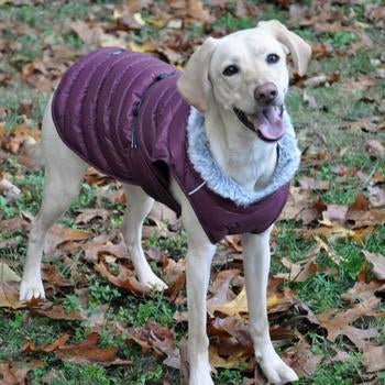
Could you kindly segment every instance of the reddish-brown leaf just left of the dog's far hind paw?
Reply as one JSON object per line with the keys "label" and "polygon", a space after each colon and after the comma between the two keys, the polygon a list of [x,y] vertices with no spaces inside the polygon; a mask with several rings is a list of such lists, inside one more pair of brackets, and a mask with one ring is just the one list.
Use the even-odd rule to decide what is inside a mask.
{"label": "reddish-brown leaf just left of the dog's far hind paw", "polygon": [[94,265],[94,268],[100,273],[103,277],[106,277],[112,285],[116,285],[120,288],[123,288],[132,294],[144,294],[148,295],[151,293],[151,288],[141,284],[136,277],[135,273],[128,267],[119,264],[119,275],[116,276],[111,274],[103,262],[99,262]]}

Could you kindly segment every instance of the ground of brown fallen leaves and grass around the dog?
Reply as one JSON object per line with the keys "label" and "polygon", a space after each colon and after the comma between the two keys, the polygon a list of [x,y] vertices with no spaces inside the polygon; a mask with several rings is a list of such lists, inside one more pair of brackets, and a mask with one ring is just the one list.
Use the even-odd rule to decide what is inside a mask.
{"label": "ground of brown fallen leaves and grass around the dog", "polygon": [[[351,352],[362,354],[362,365],[344,380],[359,384],[361,377],[367,383],[375,382],[377,374],[381,377],[384,340],[381,328],[371,320],[384,317],[385,246],[384,238],[377,235],[385,237],[381,230],[385,222],[385,111],[384,96],[377,91],[384,85],[385,57],[377,50],[384,35],[384,7],[273,3],[86,1],[84,18],[75,7],[62,7],[59,1],[44,10],[37,4],[38,12],[57,13],[55,24],[37,22],[36,11],[29,11],[23,2],[1,6],[8,9],[0,23],[0,86],[6,91],[0,100],[0,183],[8,187],[0,188],[0,307],[10,320],[26,308],[23,311],[35,319],[63,324],[62,334],[50,343],[37,344],[33,336],[25,336],[24,344],[19,345],[24,352],[18,360],[0,363],[3,381],[25,383],[29,372],[44,369],[46,363],[34,359],[37,353],[40,360],[53,360],[50,354],[54,354],[58,366],[61,361],[72,360],[124,367],[132,358],[124,355],[123,345],[116,340],[105,341],[106,330],[123,337],[127,346],[136,344],[153,354],[163,363],[165,378],[172,375],[168,366],[186,373],[186,358],[178,350],[187,328],[180,222],[168,209],[155,206],[144,224],[146,256],[168,285],[160,300],[154,300],[154,294],[138,282],[117,230],[122,206],[130,205],[130,197],[127,202],[121,185],[95,169],[85,178],[95,190],[95,199],[88,199],[90,206],[70,210],[66,224],[55,226],[47,237],[50,260],[43,265],[47,301],[19,301],[20,255],[25,253],[26,230],[36,215],[33,204],[41,199],[31,193],[42,184],[41,178],[37,185],[25,182],[28,175],[35,175],[28,148],[40,139],[36,128],[42,111],[37,102],[47,98],[68,65],[98,46],[131,47],[182,68],[207,35],[219,37],[271,16],[286,20],[310,40],[314,52],[309,74],[302,78],[292,74],[289,110],[304,152],[300,173],[277,224],[279,237],[273,233],[267,298],[271,334],[304,384],[312,383],[323,370],[332,373],[332,365],[346,361]],[[63,16],[64,8],[67,13]],[[28,96],[14,99],[12,95],[20,88]],[[315,127],[308,128],[309,122]],[[352,246],[360,250],[359,263],[346,274],[352,256],[344,249]],[[228,370],[242,373],[246,383],[263,384],[248,333],[241,253],[237,237],[229,237],[218,248],[207,302],[210,360],[218,369],[217,378],[228,378],[222,380],[226,384],[233,383],[226,377],[231,376]],[[317,305],[316,295],[322,294],[311,286],[315,277],[323,285],[343,283],[340,292],[333,293],[339,301],[329,309]],[[152,316],[143,326],[135,326],[136,312],[131,306],[145,306],[148,300],[156,304]],[[164,319],[157,317],[162,304],[169,306],[170,324],[162,324]],[[133,315],[124,312],[124,306]],[[119,321],[118,309],[123,309]],[[75,336],[80,331],[81,337]],[[317,338],[331,355],[317,345]],[[7,339],[0,336],[0,346],[4,343]]]}

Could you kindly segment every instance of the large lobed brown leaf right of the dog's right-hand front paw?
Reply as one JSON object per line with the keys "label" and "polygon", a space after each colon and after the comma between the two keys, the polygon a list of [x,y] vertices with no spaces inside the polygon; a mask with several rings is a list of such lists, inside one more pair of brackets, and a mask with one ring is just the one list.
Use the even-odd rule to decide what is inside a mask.
{"label": "large lobed brown leaf right of the dog's right-hand front paw", "polygon": [[338,336],[346,336],[359,349],[363,349],[366,340],[378,336],[376,329],[359,329],[351,327],[350,323],[363,316],[375,316],[375,307],[380,298],[371,297],[367,300],[358,304],[351,309],[339,311],[330,309],[317,315],[319,324],[327,329],[328,340],[334,342]]}

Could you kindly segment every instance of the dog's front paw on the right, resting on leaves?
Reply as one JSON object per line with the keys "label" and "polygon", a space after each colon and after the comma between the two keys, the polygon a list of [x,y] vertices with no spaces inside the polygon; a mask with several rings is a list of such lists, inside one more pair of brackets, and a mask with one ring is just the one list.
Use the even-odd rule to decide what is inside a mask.
{"label": "dog's front paw on the right, resting on leaves", "polygon": [[268,380],[268,383],[280,385],[298,381],[296,372],[286,365],[273,346],[268,346],[266,350],[255,353],[255,359]]}

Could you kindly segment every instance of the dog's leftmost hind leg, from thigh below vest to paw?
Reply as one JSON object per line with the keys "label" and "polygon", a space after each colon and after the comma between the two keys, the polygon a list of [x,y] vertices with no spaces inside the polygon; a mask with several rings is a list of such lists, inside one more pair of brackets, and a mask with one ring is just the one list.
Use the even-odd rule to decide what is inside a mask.
{"label": "dog's leftmost hind leg, from thigh below vest to paw", "polygon": [[79,191],[87,165],[58,138],[51,117],[51,103],[43,120],[43,154],[45,178],[41,210],[30,232],[20,299],[44,298],[41,261],[47,230],[68,208]]}

